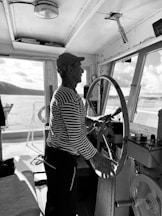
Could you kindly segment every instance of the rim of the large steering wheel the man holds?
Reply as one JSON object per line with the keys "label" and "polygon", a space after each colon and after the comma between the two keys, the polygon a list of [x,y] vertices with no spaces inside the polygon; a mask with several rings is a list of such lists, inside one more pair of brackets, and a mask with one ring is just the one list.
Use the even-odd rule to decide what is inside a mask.
{"label": "rim of the large steering wheel the man holds", "polygon": [[[124,120],[122,148],[121,148],[119,158],[117,160],[115,160],[117,165],[114,166],[114,173],[115,173],[115,175],[117,175],[122,170],[122,167],[124,166],[126,156],[127,156],[127,140],[128,140],[128,137],[129,137],[128,111],[127,111],[127,106],[126,106],[124,95],[123,95],[118,83],[112,77],[109,77],[109,76],[100,76],[100,77],[96,78],[93,81],[93,83],[91,84],[91,86],[90,86],[90,88],[89,88],[89,90],[87,92],[87,96],[86,96],[86,102],[85,102],[86,111],[88,111],[88,106],[91,107],[90,96],[91,96],[91,94],[93,92],[93,89],[94,89],[95,85],[101,80],[106,80],[107,82],[111,83],[115,87],[115,89],[117,91],[117,94],[119,96],[119,99],[120,99],[122,116],[123,116],[123,120]],[[97,114],[97,113],[95,113],[94,110],[93,110],[93,112],[94,112],[95,115]],[[103,138],[105,137],[104,134],[100,134],[100,136],[101,135],[102,135]],[[104,141],[106,141],[105,138],[104,138]],[[97,137],[97,139],[98,139],[98,137]],[[98,150],[99,150],[99,148],[98,148]],[[111,152],[112,152],[112,149],[109,146],[107,146],[107,150],[108,150],[108,154],[110,155]],[[110,158],[110,159],[112,159],[112,158]]]}

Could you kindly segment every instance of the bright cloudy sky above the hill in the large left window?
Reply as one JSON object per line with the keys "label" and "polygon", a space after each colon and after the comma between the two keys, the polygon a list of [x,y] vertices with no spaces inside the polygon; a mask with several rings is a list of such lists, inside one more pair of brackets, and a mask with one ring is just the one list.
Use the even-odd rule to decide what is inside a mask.
{"label": "bright cloudy sky above the hill in the large left window", "polygon": [[0,81],[43,90],[43,62],[0,58]]}

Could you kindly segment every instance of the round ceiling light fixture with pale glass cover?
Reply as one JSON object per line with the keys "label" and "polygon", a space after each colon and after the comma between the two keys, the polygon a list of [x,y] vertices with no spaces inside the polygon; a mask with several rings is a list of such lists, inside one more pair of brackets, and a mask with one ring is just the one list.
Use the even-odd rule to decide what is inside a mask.
{"label": "round ceiling light fixture with pale glass cover", "polygon": [[58,16],[58,5],[52,0],[35,0],[34,13],[43,19],[53,19]]}

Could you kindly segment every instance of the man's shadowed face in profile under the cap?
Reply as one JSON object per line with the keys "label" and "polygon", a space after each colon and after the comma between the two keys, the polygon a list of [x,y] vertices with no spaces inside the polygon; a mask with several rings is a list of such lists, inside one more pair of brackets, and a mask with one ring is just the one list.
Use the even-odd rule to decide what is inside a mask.
{"label": "man's shadowed face in profile under the cap", "polygon": [[76,83],[81,82],[82,73],[84,72],[84,70],[81,67],[81,63],[76,62],[71,67],[72,67],[72,79]]}

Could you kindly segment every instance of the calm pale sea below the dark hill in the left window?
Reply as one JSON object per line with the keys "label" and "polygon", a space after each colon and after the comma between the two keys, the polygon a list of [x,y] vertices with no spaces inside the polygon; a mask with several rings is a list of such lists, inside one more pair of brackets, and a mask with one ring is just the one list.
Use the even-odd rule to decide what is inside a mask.
{"label": "calm pale sea below the dark hill in the left window", "polygon": [[[5,131],[42,129],[44,124],[38,118],[39,110],[44,106],[44,96],[1,95],[3,106],[13,104],[6,120]],[[42,112],[45,118],[45,112]]]}

